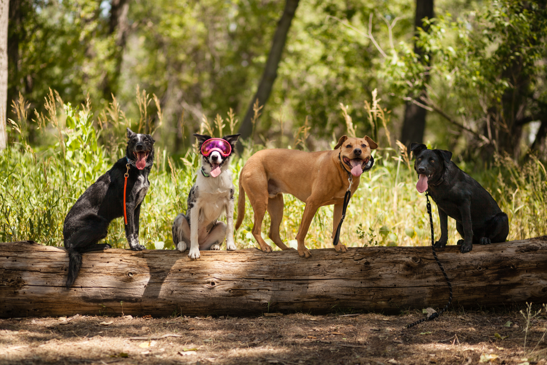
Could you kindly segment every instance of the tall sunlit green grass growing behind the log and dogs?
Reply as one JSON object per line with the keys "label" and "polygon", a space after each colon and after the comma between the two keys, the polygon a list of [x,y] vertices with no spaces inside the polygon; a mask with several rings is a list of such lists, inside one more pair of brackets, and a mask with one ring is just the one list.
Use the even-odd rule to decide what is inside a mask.
{"label": "tall sunlit green grass growing behind the log and dogs", "polygon": [[[104,118],[97,128],[89,106],[78,110],[63,105],[58,95],[51,94],[46,103],[49,114],[35,118],[39,125],[35,132],[40,134],[43,143],[30,146],[26,142],[29,124],[25,106],[15,107],[19,108],[19,118],[10,121],[11,142],[0,153],[0,240],[30,239],[44,245],[61,246],[62,225],[68,210],[91,183],[115,160],[123,157],[124,130],[129,121],[119,110],[116,112],[114,102],[109,113],[100,114]],[[334,143],[331,142],[331,146]],[[168,150],[159,143],[156,145],[156,159],[149,176],[150,189],[141,209],[139,240],[147,248],[174,248],[171,225],[174,217],[185,211],[199,159],[193,150],[184,157],[173,159]],[[252,152],[264,148],[251,142],[247,142],[246,147],[242,156],[231,163],[236,195],[237,179],[245,161]],[[417,176],[413,161],[392,148],[379,148],[374,151],[374,157],[375,166],[363,173],[359,188],[350,201],[340,241],[350,247],[429,245],[426,199],[415,188]],[[468,172],[476,168],[465,163],[459,165]],[[509,216],[508,240],[546,234],[547,173],[539,160],[530,157],[519,166],[510,158],[497,157],[495,164],[478,170],[479,173],[471,175],[483,184]],[[288,194],[284,196],[284,202],[281,236],[288,245],[296,247],[294,239],[304,203]],[[439,236],[437,207],[432,205],[435,234]],[[332,215],[332,206],[318,210],[306,237],[307,247],[332,247]],[[252,216],[252,207],[247,200],[245,219],[235,237],[238,248],[257,246],[250,233]],[[265,237],[269,223],[266,215]],[[455,221],[449,219],[449,245],[459,238]],[[269,239],[266,241],[275,247]],[[113,247],[127,248],[123,219],[115,219],[110,224],[106,242]]]}

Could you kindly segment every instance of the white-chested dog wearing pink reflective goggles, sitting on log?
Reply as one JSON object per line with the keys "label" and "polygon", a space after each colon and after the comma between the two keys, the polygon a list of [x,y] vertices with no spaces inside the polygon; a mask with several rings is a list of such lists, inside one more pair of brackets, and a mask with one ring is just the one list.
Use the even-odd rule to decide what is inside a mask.
{"label": "white-chested dog wearing pink reflective goggles, sitting on log", "polygon": [[[179,213],[173,222],[173,242],[188,256],[200,257],[200,250],[220,250],[226,237],[226,250],[236,249],[234,244],[234,184],[229,164],[237,138],[229,135],[212,138],[194,134],[199,142],[201,168],[196,183],[188,194],[186,215]],[[219,222],[226,214],[226,224]]]}

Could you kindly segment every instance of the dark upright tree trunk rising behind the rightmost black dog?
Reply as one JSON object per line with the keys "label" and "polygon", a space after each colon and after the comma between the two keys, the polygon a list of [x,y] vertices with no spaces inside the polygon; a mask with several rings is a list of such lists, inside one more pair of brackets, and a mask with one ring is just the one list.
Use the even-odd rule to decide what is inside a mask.
{"label": "dark upright tree trunk rising behind the rightmost black dog", "polygon": [[[414,31],[417,33],[417,28],[421,27],[425,31],[428,31],[428,27],[423,26],[422,19],[433,18],[433,0],[416,0],[416,16],[414,18]],[[416,43],[414,44],[414,53],[420,56],[420,61],[426,63],[429,66],[429,61],[424,60],[424,51],[423,49],[417,47]],[[427,83],[429,76],[424,76],[424,83]],[[422,89],[422,92],[416,100],[420,103],[420,96],[424,95],[426,89]],[[412,97],[412,95],[410,95]],[[403,121],[403,129],[401,131],[401,142],[403,142],[407,147],[410,146],[410,143],[423,143],[423,132],[426,129],[426,109],[417,106],[411,101],[406,102],[405,117]]]}

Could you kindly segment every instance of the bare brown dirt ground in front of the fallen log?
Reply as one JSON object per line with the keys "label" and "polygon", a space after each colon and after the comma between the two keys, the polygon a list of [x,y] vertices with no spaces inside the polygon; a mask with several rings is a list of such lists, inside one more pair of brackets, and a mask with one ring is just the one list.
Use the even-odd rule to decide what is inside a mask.
{"label": "bare brown dirt ground in front of the fallen log", "polygon": [[411,329],[405,325],[423,317],[418,311],[11,318],[0,320],[0,364],[543,365],[547,321],[526,321],[523,308],[452,310]]}

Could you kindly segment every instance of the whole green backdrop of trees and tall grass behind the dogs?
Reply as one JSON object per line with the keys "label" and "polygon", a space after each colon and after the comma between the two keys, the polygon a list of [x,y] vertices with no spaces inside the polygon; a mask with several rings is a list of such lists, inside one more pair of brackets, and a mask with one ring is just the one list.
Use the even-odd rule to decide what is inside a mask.
{"label": "whole green backdrop of trees and tall grass behind the dogs", "polygon": [[[410,142],[451,150],[508,213],[508,239],[546,234],[546,35],[539,1],[9,0],[0,239],[59,245],[74,201],[123,156],[126,126],[156,140],[149,248],[173,247],[200,131],[243,134],[235,182],[258,149],[371,136],[350,246],[428,245]],[[285,202],[290,243],[304,203]],[[329,247],[331,217],[318,211],[308,247]],[[251,228],[247,206],[239,248]],[[119,220],[108,241],[125,246]]]}

